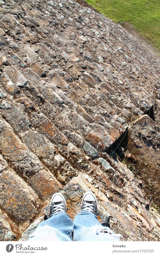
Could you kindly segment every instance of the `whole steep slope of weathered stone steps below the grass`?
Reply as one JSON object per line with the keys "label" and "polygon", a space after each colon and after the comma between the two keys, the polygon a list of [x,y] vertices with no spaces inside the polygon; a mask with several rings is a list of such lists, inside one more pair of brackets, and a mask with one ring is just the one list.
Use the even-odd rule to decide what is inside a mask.
{"label": "whole steep slope of weathered stone steps below the grass", "polygon": [[157,241],[142,181],[104,151],[150,110],[158,132],[159,60],[79,2],[0,2],[0,208],[19,239],[52,193],[74,218],[89,188],[125,240]]}

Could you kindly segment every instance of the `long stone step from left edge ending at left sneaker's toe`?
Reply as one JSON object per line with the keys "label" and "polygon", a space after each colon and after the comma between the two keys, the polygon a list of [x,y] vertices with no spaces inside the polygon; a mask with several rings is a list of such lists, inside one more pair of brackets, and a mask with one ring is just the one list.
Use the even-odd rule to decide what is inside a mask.
{"label": "long stone step from left edge ending at left sneaker's toe", "polygon": [[[40,198],[46,199],[51,191],[59,190],[60,183],[53,174],[41,164],[38,158],[14,134],[4,120],[1,123],[1,154],[18,175],[22,177]],[[47,188],[47,189],[46,189]]]}

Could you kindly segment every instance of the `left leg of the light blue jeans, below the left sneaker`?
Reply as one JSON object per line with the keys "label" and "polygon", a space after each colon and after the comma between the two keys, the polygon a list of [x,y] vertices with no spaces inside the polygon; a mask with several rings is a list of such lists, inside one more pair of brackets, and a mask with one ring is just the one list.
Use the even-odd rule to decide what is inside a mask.
{"label": "left leg of the light blue jeans, below the left sneaker", "polygon": [[[72,241],[73,221],[67,213],[57,213],[41,222],[28,241]],[[56,237],[56,238],[55,238]],[[46,238],[45,238],[46,239]],[[56,240],[55,240],[56,239]]]}

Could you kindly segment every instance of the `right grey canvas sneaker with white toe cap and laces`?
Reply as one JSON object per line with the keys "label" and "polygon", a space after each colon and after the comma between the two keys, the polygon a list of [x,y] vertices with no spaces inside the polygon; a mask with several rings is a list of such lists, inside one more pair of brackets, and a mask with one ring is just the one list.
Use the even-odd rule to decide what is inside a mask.
{"label": "right grey canvas sneaker with white toe cap and laces", "polygon": [[86,192],[82,198],[81,210],[97,215],[97,199],[92,192]]}

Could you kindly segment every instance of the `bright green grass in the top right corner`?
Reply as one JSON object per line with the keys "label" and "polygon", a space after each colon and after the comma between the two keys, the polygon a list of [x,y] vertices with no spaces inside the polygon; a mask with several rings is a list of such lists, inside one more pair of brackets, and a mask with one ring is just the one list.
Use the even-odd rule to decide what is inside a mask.
{"label": "bright green grass in the top right corner", "polygon": [[129,23],[160,49],[160,0],[86,0],[111,20]]}

